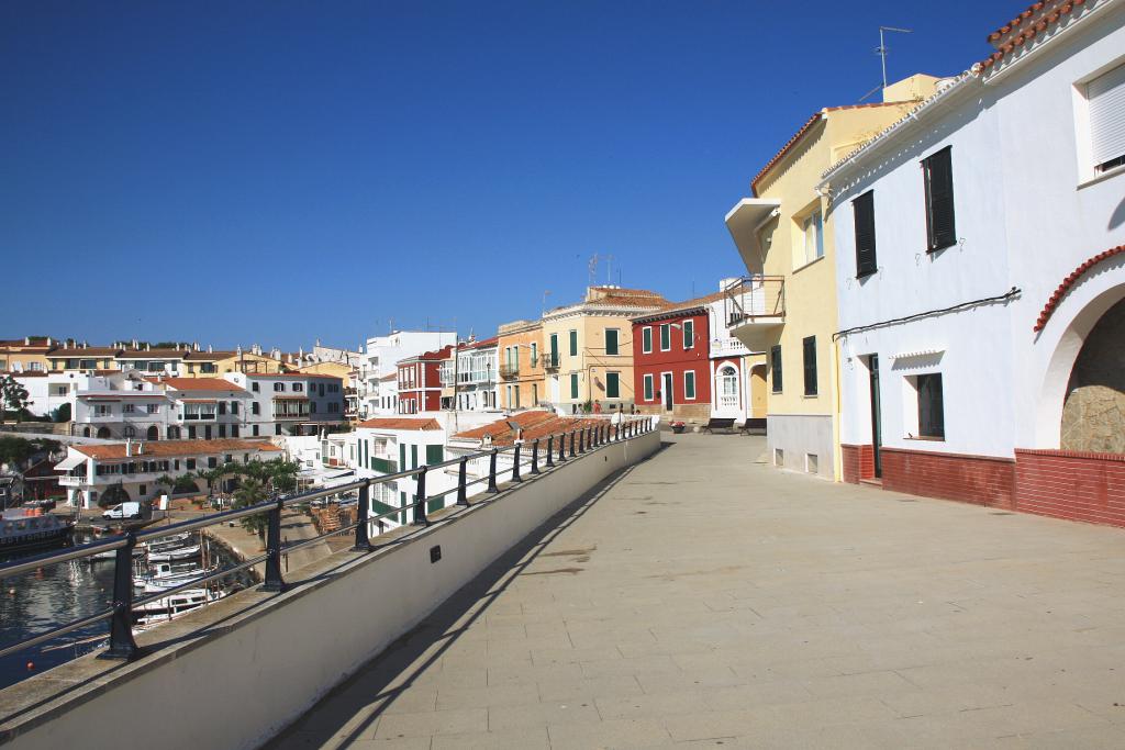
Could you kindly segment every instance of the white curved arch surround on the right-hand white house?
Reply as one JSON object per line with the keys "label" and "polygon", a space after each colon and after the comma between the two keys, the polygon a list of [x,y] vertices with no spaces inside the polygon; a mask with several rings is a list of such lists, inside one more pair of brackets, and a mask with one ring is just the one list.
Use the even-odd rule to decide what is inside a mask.
{"label": "white curved arch surround on the right-hand white house", "polygon": [[[1059,337],[1047,362],[1043,387],[1036,404],[1035,433],[1038,448],[1062,445],[1062,421],[1066,397],[1071,392],[1071,376],[1083,344],[1095,326],[1118,302],[1125,300],[1125,284],[1105,289],[1090,299],[1070,320]],[[1051,325],[1059,323],[1058,315]]]}

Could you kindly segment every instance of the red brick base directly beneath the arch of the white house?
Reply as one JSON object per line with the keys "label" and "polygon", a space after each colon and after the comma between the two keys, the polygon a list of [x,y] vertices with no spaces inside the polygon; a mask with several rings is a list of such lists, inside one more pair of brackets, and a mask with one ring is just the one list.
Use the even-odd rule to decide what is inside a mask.
{"label": "red brick base directly beneath the arch of the white house", "polygon": [[1016,449],[1016,509],[1125,526],[1125,455]]}

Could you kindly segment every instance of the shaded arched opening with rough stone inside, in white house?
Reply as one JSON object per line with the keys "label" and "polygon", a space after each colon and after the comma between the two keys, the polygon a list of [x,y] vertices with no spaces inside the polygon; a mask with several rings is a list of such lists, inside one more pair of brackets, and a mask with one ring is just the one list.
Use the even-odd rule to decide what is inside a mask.
{"label": "shaded arched opening with rough stone inside, in white house", "polygon": [[1125,453],[1125,299],[1090,329],[1074,360],[1060,425],[1064,451]]}

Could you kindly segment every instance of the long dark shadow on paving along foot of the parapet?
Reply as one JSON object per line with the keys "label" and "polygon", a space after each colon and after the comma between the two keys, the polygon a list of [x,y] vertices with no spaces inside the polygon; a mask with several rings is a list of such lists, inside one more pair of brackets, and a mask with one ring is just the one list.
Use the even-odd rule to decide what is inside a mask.
{"label": "long dark shadow on paving along foot of the parapet", "polygon": [[[669,444],[662,444],[662,450]],[[655,454],[654,454],[655,455]],[[645,459],[651,460],[652,457]],[[333,747],[356,742],[374,724],[395,699],[408,690],[415,679],[442,658],[457,639],[476,621],[487,613],[488,607],[507,589],[508,585],[528,568],[559,534],[585,515],[606,493],[628,477],[638,466],[619,471],[594,489],[577,498],[531,532],[512,549],[485,568],[471,582],[446,599],[433,613],[410,633],[406,633],[386,651],[361,667],[351,678],[336,686],[313,706],[306,716],[332,704],[331,715],[346,722],[363,713],[374,704],[378,707],[346,737],[338,737],[339,725],[332,722],[300,720],[263,748],[281,750],[290,748]],[[466,617],[466,614],[472,614]],[[424,661],[418,661],[435,643],[441,647]],[[408,672],[408,674],[407,674]],[[389,687],[395,683],[394,687]]]}

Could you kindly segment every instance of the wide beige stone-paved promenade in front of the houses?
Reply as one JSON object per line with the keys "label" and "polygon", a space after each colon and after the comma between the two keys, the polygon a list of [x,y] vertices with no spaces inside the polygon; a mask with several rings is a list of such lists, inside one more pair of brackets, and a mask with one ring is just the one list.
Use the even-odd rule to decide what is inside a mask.
{"label": "wide beige stone-paved promenade in front of the houses", "polygon": [[667,440],[273,746],[1125,747],[1123,532]]}

